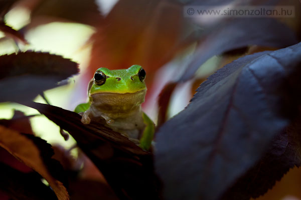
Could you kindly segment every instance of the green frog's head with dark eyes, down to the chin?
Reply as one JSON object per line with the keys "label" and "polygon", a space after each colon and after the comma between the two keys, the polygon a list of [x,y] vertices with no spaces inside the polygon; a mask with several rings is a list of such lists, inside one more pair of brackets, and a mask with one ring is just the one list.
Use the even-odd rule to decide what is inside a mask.
{"label": "green frog's head with dark eyes, down to the chin", "polygon": [[[117,70],[98,68],[89,84],[90,100],[97,107],[119,109],[119,112],[137,107],[144,101],[144,78],[145,71],[140,65]],[[121,104],[124,108],[120,108]]]}

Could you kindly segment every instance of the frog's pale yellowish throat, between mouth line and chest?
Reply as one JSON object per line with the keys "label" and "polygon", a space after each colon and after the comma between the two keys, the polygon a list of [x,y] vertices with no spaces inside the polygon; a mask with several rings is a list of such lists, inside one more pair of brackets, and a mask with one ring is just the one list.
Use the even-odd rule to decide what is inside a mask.
{"label": "frog's pale yellowish throat, between mouth line and chest", "polygon": [[90,94],[91,111],[94,116],[125,118],[137,111],[144,102],[146,89],[134,93],[94,93]]}

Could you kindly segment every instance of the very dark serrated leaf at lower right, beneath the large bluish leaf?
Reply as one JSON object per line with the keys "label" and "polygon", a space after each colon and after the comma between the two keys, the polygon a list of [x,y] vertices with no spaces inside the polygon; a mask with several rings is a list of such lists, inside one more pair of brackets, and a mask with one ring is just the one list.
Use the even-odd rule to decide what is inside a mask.
{"label": "very dark serrated leaf at lower right, beneath the large bluish leaf", "polygon": [[[300,118],[275,135],[267,153],[224,194],[222,199],[248,200],[264,194],[292,167],[301,164]],[[246,189],[247,188],[247,189]]]}

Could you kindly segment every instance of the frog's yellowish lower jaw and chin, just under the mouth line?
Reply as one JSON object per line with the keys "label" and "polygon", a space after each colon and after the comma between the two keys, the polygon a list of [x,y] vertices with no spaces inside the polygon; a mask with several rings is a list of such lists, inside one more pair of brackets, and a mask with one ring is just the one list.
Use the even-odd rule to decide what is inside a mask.
{"label": "frog's yellowish lower jaw and chin, just under the mouth line", "polygon": [[99,111],[126,113],[140,108],[145,92],[146,89],[134,93],[94,93],[90,97],[93,107]]}

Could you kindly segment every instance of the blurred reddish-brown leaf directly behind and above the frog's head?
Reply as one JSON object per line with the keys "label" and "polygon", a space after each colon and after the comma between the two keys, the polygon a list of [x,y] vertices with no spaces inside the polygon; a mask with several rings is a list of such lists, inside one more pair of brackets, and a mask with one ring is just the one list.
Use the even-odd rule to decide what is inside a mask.
{"label": "blurred reddish-brown leaf directly behind and above the frog's head", "polygon": [[119,0],[92,36],[88,77],[98,67],[140,64],[150,87],[156,70],[187,46],[182,5],[171,0]]}

